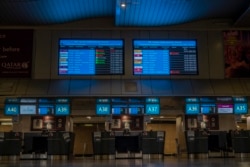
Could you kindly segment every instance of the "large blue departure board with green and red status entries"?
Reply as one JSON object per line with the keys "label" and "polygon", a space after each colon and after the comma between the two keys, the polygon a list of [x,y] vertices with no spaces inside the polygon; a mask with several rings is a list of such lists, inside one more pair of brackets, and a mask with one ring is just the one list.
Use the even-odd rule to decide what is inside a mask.
{"label": "large blue departure board with green and red status entries", "polygon": [[124,74],[124,42],[120,39],[60,39],[59,75]]}

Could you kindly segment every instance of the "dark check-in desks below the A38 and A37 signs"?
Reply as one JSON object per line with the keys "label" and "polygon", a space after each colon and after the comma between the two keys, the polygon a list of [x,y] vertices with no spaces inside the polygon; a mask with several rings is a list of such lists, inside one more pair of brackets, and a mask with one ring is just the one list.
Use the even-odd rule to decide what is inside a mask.
{"label": "dark check-in desks below the A38 and A37 signs", "polygon": [[94,132],[95,158],[153,158],[164,154],[165,132]]}

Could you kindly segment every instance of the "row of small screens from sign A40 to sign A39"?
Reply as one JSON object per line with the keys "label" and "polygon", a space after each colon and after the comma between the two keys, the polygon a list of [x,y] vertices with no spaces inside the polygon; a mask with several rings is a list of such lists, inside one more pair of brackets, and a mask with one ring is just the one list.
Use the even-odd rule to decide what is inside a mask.
{"label": "row of small screens from sign A40 to sign A39", "polygon": [[56,115],[70,114],[69,104],[5,104],[4,114],[14,115]]}

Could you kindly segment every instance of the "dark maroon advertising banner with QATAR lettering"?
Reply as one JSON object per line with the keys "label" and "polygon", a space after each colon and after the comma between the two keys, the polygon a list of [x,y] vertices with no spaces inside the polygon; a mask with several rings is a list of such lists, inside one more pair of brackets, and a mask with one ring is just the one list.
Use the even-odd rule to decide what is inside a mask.
{"label": "dark maroon advertising banner with QATAR lettering", "polygon": [[33,30],[0,30],[0,77],[31,77]]}

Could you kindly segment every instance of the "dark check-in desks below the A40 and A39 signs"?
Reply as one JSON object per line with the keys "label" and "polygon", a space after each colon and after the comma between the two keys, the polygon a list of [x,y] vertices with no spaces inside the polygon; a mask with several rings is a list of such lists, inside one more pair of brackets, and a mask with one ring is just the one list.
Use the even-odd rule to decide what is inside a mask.
{"label": "dark check-in desks below the A40 and A39 signs", "polygon": [[74,134],[71,132],[0,133],[0,156],[20,159],[47,159],[73,153]]}

